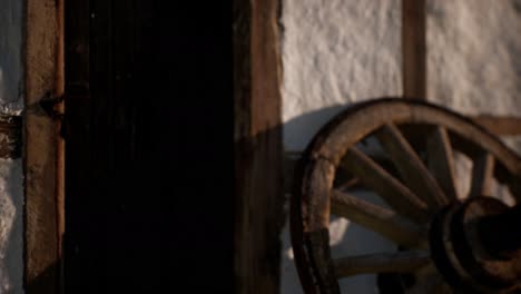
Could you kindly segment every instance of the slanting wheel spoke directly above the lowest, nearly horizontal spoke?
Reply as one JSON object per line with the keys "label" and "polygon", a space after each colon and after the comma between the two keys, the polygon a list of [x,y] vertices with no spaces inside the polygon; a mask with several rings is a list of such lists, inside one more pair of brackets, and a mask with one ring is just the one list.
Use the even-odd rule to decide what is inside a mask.
{"label": "slanting wheel spoke directly above the lowest, nearly horizontal spoke", "polygon": [[333,214],[376,232],[399,245],[426,244],[422,229],[394,212],[338,190],[333,190],[331,196]]}

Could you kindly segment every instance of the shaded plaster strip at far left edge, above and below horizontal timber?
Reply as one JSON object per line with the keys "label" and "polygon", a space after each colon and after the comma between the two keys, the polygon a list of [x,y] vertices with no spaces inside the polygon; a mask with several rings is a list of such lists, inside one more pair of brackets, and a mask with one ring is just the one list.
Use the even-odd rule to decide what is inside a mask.
{"label": "shaded plaster strip at far left edge, above and below horizontal timber", "polygon": [[[0,114],[23,107],[22,3],[0,1]],[[0,159],[0,293],[22,293],[21,160]]]}

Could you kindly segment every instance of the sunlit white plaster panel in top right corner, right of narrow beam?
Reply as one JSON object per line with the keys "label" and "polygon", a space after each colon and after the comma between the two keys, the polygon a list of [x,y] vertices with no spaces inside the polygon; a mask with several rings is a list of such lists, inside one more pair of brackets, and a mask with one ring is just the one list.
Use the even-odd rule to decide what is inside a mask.
{"label": "sunlit white plaster panel in top right corner, right of narrow beam", "polygon": [[427,1],[429,99],[463,114],[520,115],[521,1]]}

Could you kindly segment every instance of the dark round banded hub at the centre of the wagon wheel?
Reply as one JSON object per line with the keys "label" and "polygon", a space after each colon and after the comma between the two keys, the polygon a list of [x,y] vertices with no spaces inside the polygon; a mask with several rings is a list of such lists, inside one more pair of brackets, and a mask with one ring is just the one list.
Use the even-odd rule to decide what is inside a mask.
{"label": "dark round banded hub at the centre of the wagon wheel", "polygon": [[[521,249],[510,208],[491,197],[453,203],[433,218],[432,259],[452,287],[464,293],[508,293],[521,278]],[[518,223],[519,224],[519,223]]]}

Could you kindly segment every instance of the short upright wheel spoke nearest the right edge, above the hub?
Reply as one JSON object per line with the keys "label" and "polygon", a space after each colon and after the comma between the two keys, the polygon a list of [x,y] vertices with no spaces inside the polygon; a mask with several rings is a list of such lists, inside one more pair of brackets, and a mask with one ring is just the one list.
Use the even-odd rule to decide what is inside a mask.
{"label": "short upright wheel spoke nearest the right edge, above the hub", "polygon": [[473,160],[472,184],[469,197],[491,196],[494,161],[494,157],[489,153]]}

